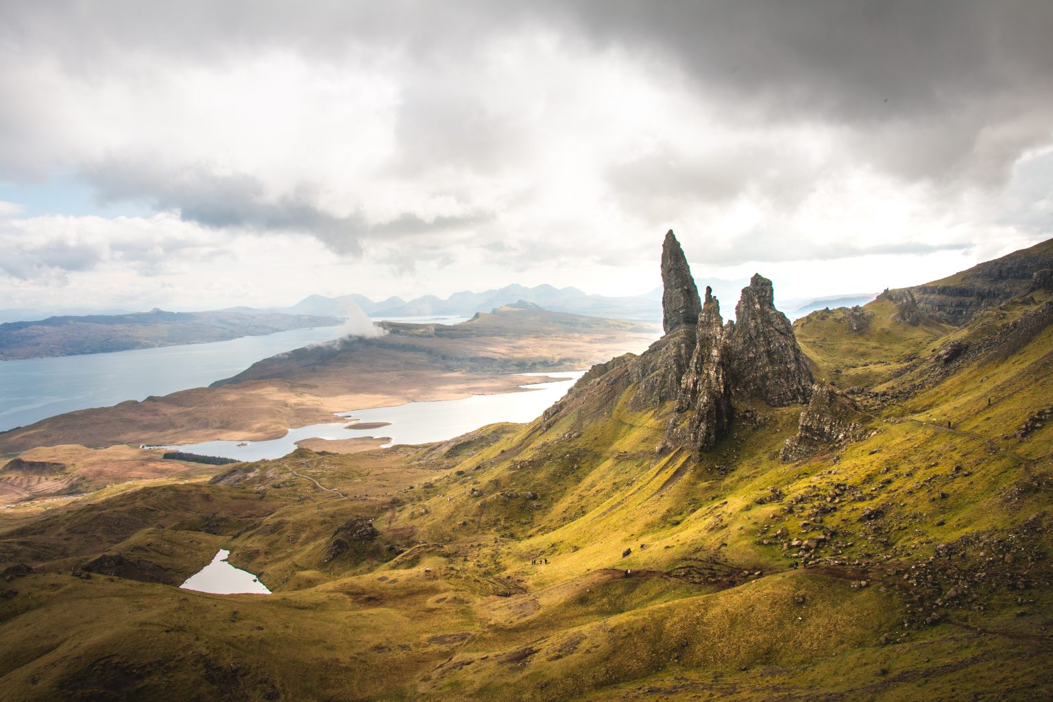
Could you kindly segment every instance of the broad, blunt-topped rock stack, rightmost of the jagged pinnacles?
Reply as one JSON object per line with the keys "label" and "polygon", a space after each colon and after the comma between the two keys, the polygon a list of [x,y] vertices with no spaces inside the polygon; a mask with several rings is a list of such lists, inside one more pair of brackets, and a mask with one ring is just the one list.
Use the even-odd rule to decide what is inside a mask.
{"label": "broad, blunt-topped rock stack, rightmost of the jagged pinnacles", "polygon": [[736,395],[781,407],[808,402],[812,372],[787,316],[775,308],[772,281],[755,274],[735,307],[724,358]]}

